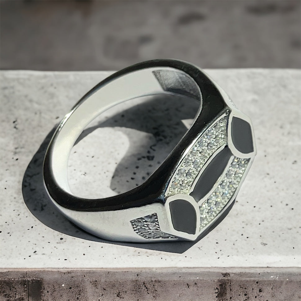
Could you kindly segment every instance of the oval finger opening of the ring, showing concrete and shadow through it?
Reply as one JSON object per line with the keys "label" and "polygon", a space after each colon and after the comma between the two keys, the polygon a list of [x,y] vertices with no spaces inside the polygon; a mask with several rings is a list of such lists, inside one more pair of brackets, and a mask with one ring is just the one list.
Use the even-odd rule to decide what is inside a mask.
{"label": "oval finger opening of the ring, showing concrete and shadow through it", "polygon": [[102,113],[71,150],[71,191],[83,198],[104,198],[141,185],[184,136],[199,106],[188,97],[160,94]]}

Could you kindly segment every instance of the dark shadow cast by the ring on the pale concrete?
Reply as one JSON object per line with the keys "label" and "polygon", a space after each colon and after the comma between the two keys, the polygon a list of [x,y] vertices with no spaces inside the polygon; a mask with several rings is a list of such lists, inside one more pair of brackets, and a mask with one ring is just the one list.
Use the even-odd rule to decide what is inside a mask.
{"label": "dark shadow cast by the ring on the pale concrete", "polygon": [[[164,158],[156,158],[162,162],[170,150],[177,144],[177,142],[181,139],[181,137],[186,132],[187,128],[183,125],[181,120],[183,119],[193,119],[195,117],[195,112],[198,109],[198,104],[193,102],[187,102],[187,99],[176,99],[176,105],[170,104],[170,99],[166,97],[162,99],[162,96],[153,97],[150,101],[144,102],[138,106],[134,106],[126,111],[123,111],[120,114],[116,114],[105,122],[101,122],[95,127],[87,128],[83,131],[82,135],[79,137],[79,142],[86,135],[91,133],[93,130],[99,127],[124,127],[124,128],[135,128],[139,130],[146,131],[148,133],[152,133],[153,135],[158,137],[158,114],[162,119],[163,116],[171,116],[170,118],[163,118],[160,120],[161,128],[160,130],[163,132],[170,132],[170,129],[173,128],[176,130],[173,131],[173,137],[169,139],[167,153],[165,153]],[[167,112],[168,111],[168,112]],[[145,116],[142,116],[142,112],[146,112]],[[153,114],[151,114],[153,112]],[[157,112],[157,113],[156,113]],[[130,116],[129,119],[124,118],[124,116]],[[150,115],[152,115],[150,118]],[[147,118],[147,125],[146,120]],[[137,122],[133,122],[133,120]],[[151,249],[172,253],[183,253],[187,249],[189,249],[192,245],[194,245],[198,240],[200,240],[204,235],[199,237],[195,241],[179,241],[179,242],[158,242],[158,243],[127,243],[127,242],[116,242],[103,240],[99,237],[93,236],[86,231],[83,231],[72,222],[70,222],[67,218],[65,218],[52,204],[50,201],[47,192],[45,191],[43,184],[43,159],[47,149],[47,146],[51,140],[51,137],[55,131],[56,127],[54,127],[46,136],[38,151],[35,153],[34,157],[30,161],[28,167],[26,168],[23,182],[22,182],[22,193],[26,206],[30,210],[30,212],[43,224],[47,227],[52,228],[55,231],[59,231],[61,233],[82,238],[85,240],[92,240],[102,243],[115,244],[115,245],[124,245],[137,247],[142,249]],[[159,135],[160,136],[160,135]],[[159,140],[158,142],[160,142]],[[160,144],[160,143],[158,143]],[[166,144],[162,144],[161,147],[165,147]],[[162,152],[161,152],[162,154]],[[127,155],[126,155],[127,156]],[[125,157],[126,157],[125,156]],[[131,157],[125,158],[129,159]],[[135,162],[133,162],[135,164]],[[123,164],[120,164],[121,168]],[[156,166],[153,167],[154,169]],[[127,171],[120,170],[119,166],[117,166],[116,171],[119,174],[123,174],[124,178],[126,178]],[[112,182],[114,181],[114,177]],[[126,181],[124,181],[126,182]],[[111,183],[111,185],[118,185],[116,182]],[[117,187],[118,188],[118,187]],[[127,187],[122,187],[122,189]],[[128,187],[131,188],[131,187]],[[209,231],[211,231],[210,229]],[[208,232],[209,232],[208,231]],[[206,233],[207,234],[207,233]],[[205,234],[205,235],[206,235]]]}

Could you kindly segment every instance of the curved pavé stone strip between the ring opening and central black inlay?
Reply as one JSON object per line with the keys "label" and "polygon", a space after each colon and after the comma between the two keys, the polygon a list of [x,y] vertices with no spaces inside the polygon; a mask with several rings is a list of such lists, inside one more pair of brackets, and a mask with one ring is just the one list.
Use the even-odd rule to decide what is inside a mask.
{"label": "curved pav\u00e9 stone strip between the ring opening and central black inlay", "polygon": [[206,161],[221,146],[227,144],[227,120],[228,116],[219,119],[195,142],[177,168],[166,196],[178,193],[189,194],[195,177]]}

